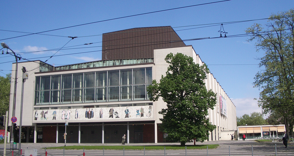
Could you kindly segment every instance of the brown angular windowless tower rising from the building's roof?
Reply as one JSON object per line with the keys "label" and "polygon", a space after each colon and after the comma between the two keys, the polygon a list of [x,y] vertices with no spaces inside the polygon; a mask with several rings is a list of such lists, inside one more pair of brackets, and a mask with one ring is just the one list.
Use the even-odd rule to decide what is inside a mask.
{"label": "brown angular windowless tower rising from the building's roof", "polygon": [[102,60],[153,58],[153,50],[186,46],[171,26],[132,28],[102,36]]}

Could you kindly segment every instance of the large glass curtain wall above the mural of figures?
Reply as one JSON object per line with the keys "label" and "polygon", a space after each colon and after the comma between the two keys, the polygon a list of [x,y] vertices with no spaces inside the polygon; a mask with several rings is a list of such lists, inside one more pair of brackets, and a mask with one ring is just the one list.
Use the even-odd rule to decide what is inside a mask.
{"label": "large glass curtain wall above the mural of figures", "polygon": [[152,67],[37,76],[35,105],[148,100]]}

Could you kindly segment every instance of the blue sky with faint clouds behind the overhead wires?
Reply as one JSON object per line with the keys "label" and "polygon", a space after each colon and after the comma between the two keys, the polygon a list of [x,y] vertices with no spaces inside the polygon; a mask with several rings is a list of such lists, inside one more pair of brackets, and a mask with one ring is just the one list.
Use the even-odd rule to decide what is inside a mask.
{"label": "blue sky with faint clouds behind the overhead wires", "polygon": [[[186,41],[185,44],[192,45],[196,53],[201,57],[201,60],[208,65],[211,73],[235,104],[238,117],[243,114],[250,114],[253,111],[261,112],[261,108],[258,108],[257,101],[253,100],[259,97],[259,90],[253,88],[252,83],[255,74],[260,70],[258,68],[259,61],[256,58],[262,57],[264,52],[256,52],[255,43],[248,42],[248,37],[246,36],[212,39],[220,36],[218,32],[218,30],[220,30],[220,24],[214,24],[215,26],[210,25],[204,28],[199,28],[203,26],[195,25],[224,23],[223,29],[227,32],[228,36],[244,34],[246,28],[249,28],[253,23],[260,23],[265,27],[268,20],[233,24],[225,23],[268,18],[273,13],[288,11],[293,8],[293,0],[231,0],[104,21],[124,16],[210,2],[217,2],[217,0],[2,0],[0,42],[5,42],[14,52],[29,60],[46,61],[50,56],[54,55],[54,53],[56,53],[55,55],[64,55],[87,52],[56,56],[47,61],[47,63],[51,65],[60,66],[101,60],[100,50],[103,33],[139,27],[171,26],[182,40],[211,38]],[[92,24],[76,26],[85,23]],[[55,30],[70,26],[76,27]],[[54,31],[42,33],[46,35],[27,35],[28,33],[39,33],[48,30]],[[21,35],[27,36],[17,37]],[[71,38],[67,36],[77,36],[78,38],[71,40]],[[93,44],[83,45],[86,43]],[[80,49],[26,53],[59,49],[63,46],[74,46],[71,48]],[[1,76],[5,76],[11,72],[11,65],[13,62],[15,62],[13,56],[7,55],[5,52],[3,55],[0,55]]]}

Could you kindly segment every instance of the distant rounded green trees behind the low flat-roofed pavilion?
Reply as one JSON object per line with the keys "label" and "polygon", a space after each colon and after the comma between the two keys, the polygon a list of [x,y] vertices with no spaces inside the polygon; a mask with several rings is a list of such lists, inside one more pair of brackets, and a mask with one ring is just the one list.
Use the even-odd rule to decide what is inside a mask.
{"label": "distant rounded green trees behind the low flat-roofed pavilion", "polygon": [[240,118],[237,117],[237,126],[265,125],[265,124],[268,124],[268,122],[263,118],[262,113],[253,112],[253,113],[250,113],[250,116],[248,114],[244,114]]}

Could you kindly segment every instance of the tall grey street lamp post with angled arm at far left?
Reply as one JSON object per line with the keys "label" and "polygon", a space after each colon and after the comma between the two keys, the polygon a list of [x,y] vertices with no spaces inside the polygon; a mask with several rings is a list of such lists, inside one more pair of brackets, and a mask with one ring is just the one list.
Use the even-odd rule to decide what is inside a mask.
{"label": "tall grey street lamp post with angled arm at far left", "polygon": [[[9,49],[9,46],[6,45],[6,43],[2,42],[1,46],[3,48]],[[15,102],[16,102],[16,83],[17,83],[17,60],[20,59],[20,57],[17,57],[15,55],[15,52],[13,50],[11,50],[14,57],[15,57],[15,76],[14,76],[14,94],[13,94],[13,105],[12,105],[12,116],[15,116]],[[8,52],[7,52],[8,53]],[[9,53],[10,54],[10,53]],[[12,55],[12,54],[10,54]],[[10,126],[10,149],[13,149],[13,143],[14,143],[14,124],[11,124]]]}

